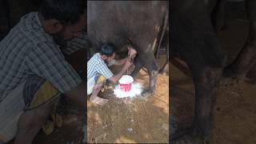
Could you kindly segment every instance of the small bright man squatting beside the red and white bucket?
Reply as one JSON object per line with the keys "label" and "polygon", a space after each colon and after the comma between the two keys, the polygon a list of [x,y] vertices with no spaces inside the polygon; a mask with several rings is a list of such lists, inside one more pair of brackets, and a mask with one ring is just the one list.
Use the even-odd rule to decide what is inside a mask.
{"label": "small bright man squatting beside the red and white bucket", "polygon": [[[99,53],[94,54],[87,62],[87,94],[91,94],[90,102],[98,105],[104,105],[108,102],[105,98],[98,97],[98,92],[105,85],[106,81],[118,83],[118,80],[132,65],[132,59],[136,56],[136,50],[127,46],[128,56],[121,60],[114,60],[115,47],[110,43],[101,46]],[[108,66],[122,66],[122,70],[118,74],[113,74]],[[103,87],[104,88],[104,87]]]}

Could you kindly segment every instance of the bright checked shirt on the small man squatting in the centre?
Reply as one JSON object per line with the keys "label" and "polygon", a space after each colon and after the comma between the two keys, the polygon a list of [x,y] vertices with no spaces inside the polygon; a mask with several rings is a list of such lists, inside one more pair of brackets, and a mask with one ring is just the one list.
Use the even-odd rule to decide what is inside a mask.
{"label": "bright checked shirt on the small man squatting in the centre", "polygon": [[94,54],[87,62],[87,80],[93,78],[97,73],[102,74],[107,79],[113,76],[113,73],[108,68],[106,62],[102,60],[99,53]]}

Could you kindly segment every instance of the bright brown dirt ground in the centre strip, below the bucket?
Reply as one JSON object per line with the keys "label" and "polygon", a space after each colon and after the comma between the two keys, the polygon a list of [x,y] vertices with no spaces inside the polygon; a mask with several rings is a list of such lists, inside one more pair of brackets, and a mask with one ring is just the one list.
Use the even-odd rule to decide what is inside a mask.
{"label": "bright brown dirt ground in the centre strip, below the bucket", "polygon": [[[136,80],[144,87],[149,85],[148,74],[143,69],[140,70]],[[169,75],[164,74],[157,78],[154,97],[115,98],[113,90],[110,89],[101,94],[102,98],[110,99],[105,106],[95,106],[88,101],[88,142],[167,143],[169,134],[168,86]]]}

